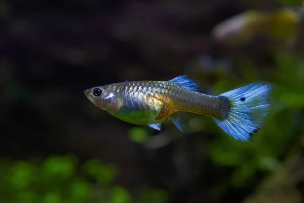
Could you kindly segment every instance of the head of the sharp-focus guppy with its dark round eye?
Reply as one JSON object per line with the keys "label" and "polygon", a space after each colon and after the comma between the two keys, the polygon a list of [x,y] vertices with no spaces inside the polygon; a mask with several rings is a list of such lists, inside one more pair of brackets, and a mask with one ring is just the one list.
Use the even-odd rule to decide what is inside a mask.
{"label": "head of the sharp-focus guppy with its dark round eye", "polygon": [[87,98],[97,107],[103,110],[118,110],[122,106],[119,94],[110,86],[97,86],[85,90]]}

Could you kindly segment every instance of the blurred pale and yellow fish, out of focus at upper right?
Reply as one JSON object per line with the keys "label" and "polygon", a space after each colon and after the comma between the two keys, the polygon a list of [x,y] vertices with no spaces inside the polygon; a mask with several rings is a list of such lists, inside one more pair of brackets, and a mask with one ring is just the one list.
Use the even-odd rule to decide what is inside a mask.
{"label": "blurred pale and yellow fish, out of focus at upper right", "polygon": [[301,12],[281,9],[272,13],[246,11],[217,24],[212,35],[216,41],[229,45],[240,45],[257,36],[281,40],[292,44],[301,21]]}

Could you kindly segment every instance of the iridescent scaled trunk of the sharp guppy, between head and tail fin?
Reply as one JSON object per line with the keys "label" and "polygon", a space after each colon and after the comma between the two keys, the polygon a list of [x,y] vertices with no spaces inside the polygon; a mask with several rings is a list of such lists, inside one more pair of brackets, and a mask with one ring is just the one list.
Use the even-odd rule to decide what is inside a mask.
{"label": "iridescent scaled trunk of the sharp guppy, between head and tail fin", "polygon": [[132,123],[162,122],[173,113],[193,112],[220,118],[225,108],[224,101],[186,89],[170,82],[135,81],[109,85],[122,99],[120,114],[129,116]]}

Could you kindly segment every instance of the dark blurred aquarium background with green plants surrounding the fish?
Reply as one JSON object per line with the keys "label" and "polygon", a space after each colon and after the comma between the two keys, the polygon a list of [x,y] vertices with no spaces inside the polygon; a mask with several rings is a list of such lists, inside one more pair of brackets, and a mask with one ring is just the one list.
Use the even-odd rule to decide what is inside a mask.
{"label": "dark blurred aquarium background with green plants surrounding the fish", "polygon": [[[211,32],[239,13],[281,8],[270,0],[1,0],[0,202],[302,202],[302,25],[292,46],[269,38],[229,46]],[[184,74],[209,94],[274,82],[275,111],[254,142],[240,143],[207,117],[194,118],[187,135],[171,123],[160,133],[134,126],[83,93]],[[98,176],[81,170],[92,159],[101,161],[90,166]]]}

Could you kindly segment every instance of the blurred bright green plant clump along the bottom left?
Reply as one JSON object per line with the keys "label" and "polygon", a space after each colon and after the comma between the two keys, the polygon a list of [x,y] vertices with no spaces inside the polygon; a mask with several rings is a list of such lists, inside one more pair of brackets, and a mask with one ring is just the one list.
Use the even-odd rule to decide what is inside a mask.
{"label": "blurred bright green plant clump along the bottom left", "polygon": [[0,160],[0,202],[152,203],[167,199],[164,190],[143,186],[133,193],[114,185],[119,176],[116,165],[93,159],[81,169],[78,166],[73,155],[50,156],[41,164],[33,160]]}

